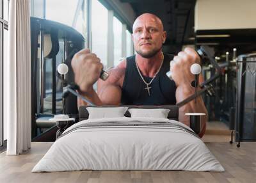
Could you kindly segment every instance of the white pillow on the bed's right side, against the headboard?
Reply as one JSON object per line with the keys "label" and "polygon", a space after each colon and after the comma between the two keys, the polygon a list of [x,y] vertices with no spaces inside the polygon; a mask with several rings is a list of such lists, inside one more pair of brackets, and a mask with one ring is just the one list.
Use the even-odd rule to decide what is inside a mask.
{"label": "white pillow on the bed's right side, against the headboard", "polygon": [[128,109],[131,117],[167,118],[170,109]]}

